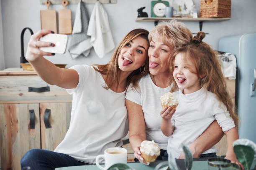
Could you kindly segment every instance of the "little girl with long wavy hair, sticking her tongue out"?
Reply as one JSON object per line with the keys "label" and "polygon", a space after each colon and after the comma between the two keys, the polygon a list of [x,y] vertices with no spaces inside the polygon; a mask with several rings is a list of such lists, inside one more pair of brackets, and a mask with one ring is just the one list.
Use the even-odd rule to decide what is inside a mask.
{"label": "little girl with long wavy hair, sticking her tongue out", "polygon": [[[161,110],[161,130],[164,135],[170,136],[168,147],[174,157],[179,158],[181,144],[189,146],[216,119],[227,137],[225,158],[241,166],[232,144],[238,139],[238,117],[232,109],[220,62],[214,50],[202,42],[204,37],[204,32],[198,32],[171,58],[171,70],[176,82],[171,92],[179,100],[179,105],[176,110],[171,107]],[[176,91],[178,88],[179,91]],[[212,156],[209,153],[215,155],[216,151],[210,148],[203,154]]]}

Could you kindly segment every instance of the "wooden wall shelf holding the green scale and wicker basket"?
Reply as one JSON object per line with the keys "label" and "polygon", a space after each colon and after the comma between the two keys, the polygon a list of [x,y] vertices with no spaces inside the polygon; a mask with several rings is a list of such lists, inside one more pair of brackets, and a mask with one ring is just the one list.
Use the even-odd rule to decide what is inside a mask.
{"label": "wooden wall shelf holding the green scale and wicker basket", "polygon": [[159,21],[167,21],[167,20],[177,20],[177,21],[198,21],[199,22],[199,28],[200,31],[202,31],[202,23],[204,21],[224,21],[224,20],[230,20],[230,18],[188,18],[188,17],[173,17],[173,18],[136,18],[136,22],[152,22],[154,21],[155,25],[158,24]]}

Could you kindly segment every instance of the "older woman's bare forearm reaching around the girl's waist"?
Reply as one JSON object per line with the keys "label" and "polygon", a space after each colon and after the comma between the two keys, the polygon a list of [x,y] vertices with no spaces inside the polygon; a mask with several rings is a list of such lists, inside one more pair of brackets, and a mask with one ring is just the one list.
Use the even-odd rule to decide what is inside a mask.
{"label": "older woman's bare forearm reaching around the girl's waist", "polygon": [[[193,158],[199,158],[201,153],[208,150],[213,145],[218,143],[223,137],[224,133],[218,125],[218,122],[214,120],[210,126],[198,137],[191,145],[189,149],[192,152]],[[179,159],[184,159],[184,154],[179,156]]]}

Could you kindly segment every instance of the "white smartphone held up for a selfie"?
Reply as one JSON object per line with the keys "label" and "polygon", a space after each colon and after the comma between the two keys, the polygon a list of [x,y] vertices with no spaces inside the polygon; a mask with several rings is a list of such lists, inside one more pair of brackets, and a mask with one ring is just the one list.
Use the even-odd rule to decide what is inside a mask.
{"label": "white smartphone held up for a selfie", "polygon": [[44,52],[51,52],[57,54],[64,54],[67,47],[68,36],[65,34],[47,34],[40,38],[40,41],[52,42],[54,47],[40,47],[40,50]]}

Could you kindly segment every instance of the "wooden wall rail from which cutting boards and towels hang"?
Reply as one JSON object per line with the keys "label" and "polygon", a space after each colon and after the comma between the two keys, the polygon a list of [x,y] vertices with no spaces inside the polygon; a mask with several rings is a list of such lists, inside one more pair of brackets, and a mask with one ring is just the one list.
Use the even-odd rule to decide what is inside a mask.
{"label": "wooden wall rail from which cutting boards and towels hang", "polygon": [[[41,4],[45,4],[46,0],[40,0]],[[51,4],[61,4],[62,0],[50,0]],[[78,4],[81,0],[68,0],[69,4]],[[82,0],[86,4],[95,4],[97,0]],[[99,0],[102,4],[116,3],[117,0]]]}

